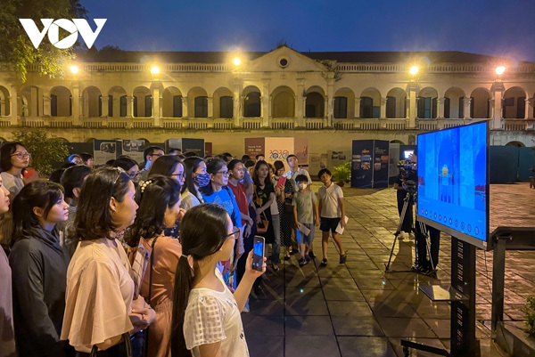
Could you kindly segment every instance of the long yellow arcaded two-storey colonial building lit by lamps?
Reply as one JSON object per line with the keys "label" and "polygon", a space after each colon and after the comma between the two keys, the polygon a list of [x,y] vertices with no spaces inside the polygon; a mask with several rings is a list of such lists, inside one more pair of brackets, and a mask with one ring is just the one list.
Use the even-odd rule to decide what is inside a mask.
{"label": "long yellow arcaded two-storey colonial building lit by lamps", "polygon": [[[491,145],[533,146],[535,63],[472,53],[96,53],[63,79],[0,64],[0,140],[45,127],[69,142],[308,137],[310,150],[490,119]],[[416,68],[416,67],[417,68]],[[496,70],[504,66],[505,70]],[[78,69],[78,71],[76,70]],[[417,69],[417,70],[416,70]],[[501,74],[498,74],[501,73]]]}

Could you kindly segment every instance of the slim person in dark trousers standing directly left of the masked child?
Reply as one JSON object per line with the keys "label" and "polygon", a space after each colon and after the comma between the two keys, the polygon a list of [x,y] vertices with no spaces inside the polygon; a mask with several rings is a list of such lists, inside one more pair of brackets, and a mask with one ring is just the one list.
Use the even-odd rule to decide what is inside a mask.
{"label": "slim person in dark trousers standing directly left of the masked child", "polygon": [[292,197],[292,183],[290,180],[284,180],[284,184],[279,184],[279,180],[283,177],[284,163],[281,160],[276,160],[273,163],[275,172],[273,174],[273,185],[275,186],[276,206],[279,212],[279,221],[281,226],[281,247],[284,247],[284,260],[290,259],[290,247],[292,247],[292,225],[291,217],[286,213],[284,199]]}

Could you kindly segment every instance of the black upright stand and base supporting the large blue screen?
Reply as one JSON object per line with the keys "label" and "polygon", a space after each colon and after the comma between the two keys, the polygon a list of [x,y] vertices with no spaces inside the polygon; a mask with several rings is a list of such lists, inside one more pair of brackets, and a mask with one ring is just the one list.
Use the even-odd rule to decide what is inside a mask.
{"label": "black upright stand and base supporting the large blue screen", "polygon": [[442,356],[481,356],[475,340],[475,249],[475,246],[451,237],[451,286],[420,287],[432,301],[451,302],[450,352],[401,340],[406,356],[409,348]]}

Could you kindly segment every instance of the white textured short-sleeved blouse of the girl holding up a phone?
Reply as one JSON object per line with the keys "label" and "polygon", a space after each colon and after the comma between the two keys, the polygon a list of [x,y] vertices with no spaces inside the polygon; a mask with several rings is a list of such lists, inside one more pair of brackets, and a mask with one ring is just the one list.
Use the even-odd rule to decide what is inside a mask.
{"label": "white textured short-sleeved blouse of the girl holding up a phone", "polygon": [[190,291],[184,317],[185,346],[198,357],[200,345],[221,342],[221,357],[248,357],[238,304],[218,269],[216,275],[225,287],[223,292],[211,288]]}

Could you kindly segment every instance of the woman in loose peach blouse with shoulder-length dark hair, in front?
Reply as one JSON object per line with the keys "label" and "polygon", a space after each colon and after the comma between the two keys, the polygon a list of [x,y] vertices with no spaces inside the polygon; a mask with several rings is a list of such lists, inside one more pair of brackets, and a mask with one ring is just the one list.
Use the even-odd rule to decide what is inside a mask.
{"label": "woman in loose peach blouse with shoulder-length dark hair, in front", "polygon": [[[89,356],[94,346],[100,356],[122,355],[128,333],[145,329],[155,318],[143,297],[133,300],[128,257],[115,240],[134,223],[134,195],[128,174],[105,166],[87,176],[80,193],[74,223],[80,243],[67,271],[62,328],[62,340],[69,339],[78,357]],[[140,355],[141,348],[134,352]]]}

